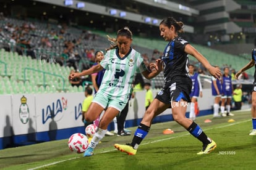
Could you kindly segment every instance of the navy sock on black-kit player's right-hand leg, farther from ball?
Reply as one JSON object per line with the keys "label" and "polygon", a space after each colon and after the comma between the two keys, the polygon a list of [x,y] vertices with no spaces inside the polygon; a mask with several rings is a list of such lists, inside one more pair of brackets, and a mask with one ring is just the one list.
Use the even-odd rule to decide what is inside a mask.
{"label": "navy sock on black-kit player's right-hand leg, farther from ball", "polygon": [[203,144],[210,144],[211,140],[207,137],[207,135],[203,132],[203,130],[196,124],[194,121],[189,126],[187,131],[192,134],[192,136],[196,137],[198,140],[200,140]]}

